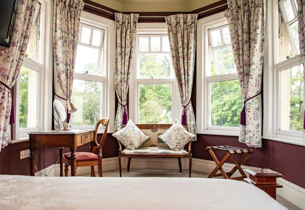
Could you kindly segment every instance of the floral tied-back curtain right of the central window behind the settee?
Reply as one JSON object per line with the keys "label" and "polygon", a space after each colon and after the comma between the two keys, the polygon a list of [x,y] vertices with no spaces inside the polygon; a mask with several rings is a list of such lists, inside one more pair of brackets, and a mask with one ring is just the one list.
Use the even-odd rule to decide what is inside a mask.
{"label": "floral tied-back curtain right of the central window behind the settee", "polygon": [[177,14],[165,17],[170,41],[170,54],[183,106],[181,123],[186,125],[195,135],[196,121],[191,95],[196,53],[197,17],[198,14]]}

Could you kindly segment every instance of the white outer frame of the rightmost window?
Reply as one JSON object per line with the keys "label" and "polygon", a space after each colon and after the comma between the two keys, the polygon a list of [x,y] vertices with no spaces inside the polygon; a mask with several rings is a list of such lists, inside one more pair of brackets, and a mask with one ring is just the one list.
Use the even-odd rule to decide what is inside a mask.
{"label": "white outer frame of the rightmost window", "polygon": [[[302,63],[300,55],[279,62],[278,4],[282,2],[277,0],[267,2],[263,69],[264,119],[262,138],[305,146],[304,130],[303,133],[280,130],[280,72]],[[305,107],[303,107],[303,111],[304,109]]]}

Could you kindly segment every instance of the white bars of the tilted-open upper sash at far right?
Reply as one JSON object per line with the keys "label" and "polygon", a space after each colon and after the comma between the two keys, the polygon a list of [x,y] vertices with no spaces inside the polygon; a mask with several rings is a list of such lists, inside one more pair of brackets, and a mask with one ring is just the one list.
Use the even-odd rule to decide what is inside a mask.
{"label": "white bars of the tilted-open upper sash at far right", "polygon": [[[285,15],[285,9],[284,9],[284,6],[283,6],[283,3],[285,2],[286,0],[280,0],[278,2],[278,5],[279,5],[279,8],[280,8],[280,12],[283,13],[283,16]],[[288,38],[289,38],[289,43],[291,45],[291,48],[292,48],[292,53],[294,55],[297,55],[297,51],[296,51],[296,45],[294,43],[294,40],[293,40],[293,36],[292,36],[292,33],[291,33],[291,30],[290,30],[290,25],[292,23],[294,23],[295,21],[298,20],[298,15],[297,15],[297,8],[295,7],[295,4],[294,4],[294,0],[288,0],[290,1],[291,3],[291,6],[292,6],[292,10],[293,10],[293,13],[295,15],[295,18],[293,18],[292,20],[288,21],[286,17],[283,17],[283,22],[285,24],[285,27],[286,27],[286,31],[288,33]]]}

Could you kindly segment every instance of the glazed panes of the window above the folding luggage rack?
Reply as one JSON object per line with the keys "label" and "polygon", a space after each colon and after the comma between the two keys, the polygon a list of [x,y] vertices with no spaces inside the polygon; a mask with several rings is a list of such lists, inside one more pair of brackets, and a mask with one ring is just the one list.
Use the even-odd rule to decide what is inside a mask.
{"label": "glazed panes of the window above the folding luggage rack", "polygon": [[208,40],[211,61],[206,71],[209,92],[207,129],[234,127],[232,129],[237,131],[243,103],[228,24],[208,28]]}

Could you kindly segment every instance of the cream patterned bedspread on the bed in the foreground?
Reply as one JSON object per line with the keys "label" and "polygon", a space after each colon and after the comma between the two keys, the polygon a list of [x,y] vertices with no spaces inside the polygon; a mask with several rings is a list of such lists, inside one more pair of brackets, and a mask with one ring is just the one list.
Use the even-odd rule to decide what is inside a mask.
{"label": "cream patterned bedspread on the bed in the foreground", "polygon": [[0,175],[0,209],[286,209],[245,182]]}

